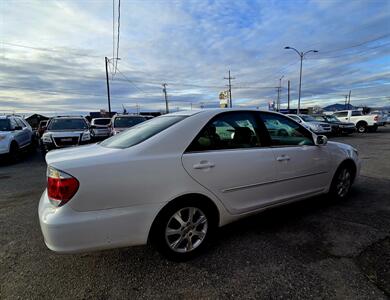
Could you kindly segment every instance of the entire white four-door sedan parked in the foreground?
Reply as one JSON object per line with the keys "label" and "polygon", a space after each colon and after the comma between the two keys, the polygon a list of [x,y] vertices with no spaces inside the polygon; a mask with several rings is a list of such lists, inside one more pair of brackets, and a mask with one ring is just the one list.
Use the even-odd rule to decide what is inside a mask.
{"label": "entire white four-door sedan parked in the foreground", "polygon": [[345,198],[360,169],[351,146],[281,114],[241,109],[167,114],[46,161],[39,220],[48,248],[151,242],[175,260],[249,214],[325,193]]}

